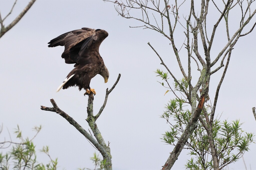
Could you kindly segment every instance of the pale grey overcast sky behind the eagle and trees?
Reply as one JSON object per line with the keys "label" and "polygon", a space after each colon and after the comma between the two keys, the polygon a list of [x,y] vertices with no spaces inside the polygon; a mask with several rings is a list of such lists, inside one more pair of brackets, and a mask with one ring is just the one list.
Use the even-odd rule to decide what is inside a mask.
{"label": "pale grey overcast sky behind the eagle and trees", "polygon": [[[17,1],[5,25],[28,2]],[[2,17],[8,14],[13,3],[14,0],[0,0]],[[180,20],[183,22],[188,9],[186,4],[180,9]],[[230,32],[239,28],[239,12],[234,12],[230,17]],[[217,21],[216,14],[217,11],[211,6],[209,30]],[[103,104],[106,88],[111,88],[118,74],[121,74],[119,83],[109,95],[108,103],[97,120],[104,140],[110,142],[113,169],[161,169],[173,147],[165,145],[160,139],[169,126],[159,115],[174,96],[170,92],[164,96],[166,89],[157,82],[161,79],[154,73],[157,68],[164,68],[147,42],[159,52],[178,79],[182,79],[182,75],[169,41],[152,30],[129,28],[140,25],[135,20],[118,16],[113,4],[101,0],[37,0],[20,22],[0,39],[0,123],[4,127],[0,141],[4,138],[8,140],[7,128],[12,134],[17,124],[24,137],[33,137],[31,128],[42,125],[41,132],[34,139],[36,149],[39,151],[49,145],[51,157],[58,158],[59,169],[93,168],[90,157],[95,149],[90,143],[61,116],[42,111],[40,106],[52,107],[50,99],[53,98],[61,110],[84,129],[89,128],[85,121],[88,97],[83,96],[84,91],[72,87],[56,93],[57,87],[73,69],[73,64],[66,64],[61,58],[64,47],[48,48],[47,43],[65,32],[82,27],[104,29],[109,36],[101,44],[100,54],[110,78],[105,84],[103,78],[97,75],[90,86],[97,92],[94,97],[96,114]],[[224,26],[224,22],[221,25]],[[179,54],[184,67],[187,67],[186,49],[182,47],[185,30],[178,25],[176,31],[176,45],[178,49],[182,48]],[[240,119],[241,123],[244,122],[242,128],[254,133],[256,122],[251,108],[256,106],[255,36],[253,31],[241,37],[235,45],[216,109],[216,116],[222,114],[221,120]],[[215,38],[211,56],[216,56],[226,44],[223,29],[217,29]],[[192,63],[192,68],[195,83],[198,77],[195,63]],[[211,77],[209,95],[212,102],[223,69]],[[14,135],[12,140],[15,141]],[[247,168],[256,169],[255,150],[256,144],[253,143],[250,151],[244,154]],[[182,151],[173,169],[185,169],[184,165],[189,159],[187,152]],[[43,153],[38,153],[37,157],[39,162],[48,161]],[[228,169],[244,169],[243,161],[229,165]]]}

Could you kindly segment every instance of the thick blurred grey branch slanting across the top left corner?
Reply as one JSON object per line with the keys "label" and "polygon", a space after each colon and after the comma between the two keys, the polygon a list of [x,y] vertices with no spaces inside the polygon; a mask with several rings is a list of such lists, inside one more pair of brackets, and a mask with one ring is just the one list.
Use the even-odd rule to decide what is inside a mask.
{"label": "thick blurred grey branch slanting across the top left corner", "polygon": [[[16,25],[20,19],[22,19],[22,17],[27,13],[27,11],[30,9],[30,7],[35,3],[36,0],[31,0],[28,5],[23,9],[22,12],[20,12],[20,14],[15,18],[15,20],[13,20],[7,27],[1,27],[1,31],[0,31],[0,38],[7,32],[9,31],[11,28],[13,28],[14,25]],[[15,1],[16,3],[16,1]],[[9,14],[8,14],[9,15]],[[5,19],[5,18],[4,18]],[[2,20],[3,21],[3,20]],[[1,21],[1,22],[2,22]],[[1,23],[2,26],[2,23]]]}

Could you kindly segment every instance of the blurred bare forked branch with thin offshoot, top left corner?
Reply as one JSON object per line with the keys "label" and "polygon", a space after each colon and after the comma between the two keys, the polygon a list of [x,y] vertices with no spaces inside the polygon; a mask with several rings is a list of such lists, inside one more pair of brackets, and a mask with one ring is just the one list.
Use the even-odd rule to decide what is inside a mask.
{"label": "blurred bare forked branch with thin offshoot, top left corner", "polygon": [[0,30],[0,38],[7,32],[9,31],[11,28],[13,28],[14,25],[16,25],[20,19],[22,19],[22,17],[26,14],[26,12],[30,9],[30,7],[35,3],[36,0],[31,0],[28,5],[22,10],[22,12],[20,12],[20,14],[10,23],[8,24],[6,27],[4,25],[4,20],[10,15],[12,14],[13,8],[16,5],[17,0],[15,0],[12,9],[10,10],[10,12],[4,17],[2,18],[1,13],[0,13],[0,24],[1,24],[1,30]]}

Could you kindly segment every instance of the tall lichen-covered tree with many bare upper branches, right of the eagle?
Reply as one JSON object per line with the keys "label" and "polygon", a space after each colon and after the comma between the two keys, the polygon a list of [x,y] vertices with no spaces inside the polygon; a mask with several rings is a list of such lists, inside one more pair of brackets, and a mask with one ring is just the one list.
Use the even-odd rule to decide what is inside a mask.
{"label": "tall lichen-covered tree with many bare upper branches, right of the eagle", "polygon": [[[148,45],[153,49],[153,51],[161,60],[161,64],[167,70],[166,73],[161,70],[157,70],[156,73],[158,74],[158,76],[161,76],[165,83],[168,84],[167,86],[165,86],[166,88],[168,88],[167,92],[172,91],[173,94],[176,96],[176,99],[172,100],[173,103],[181,103],[181,105],[183,103],[189,103],[190,105],[190,111],[187,111],[189,112],[187,114],[189,116],[188,120],[186,120],[186,117],[183,118],[184,121],[182,120],[181,115],[185,115],[186,112],[182,110],[182,107],[180,107],[180,110],[175,110],[177,106],[173,103],[170,103],[170,106],[168,106],[169,108],[167,108],[168,111],[163,114],[163,118],[165,118],[167,122],[169,122],[168,119],[170,117],[174,116],[178,123],[177,126],[170,123],[173,131],[169,132],[164,137],[167,143],[174,145],[174,149],[170,153],[170,156],[167,159],[166,163],[163,165],[162,169],[170,169],[173,166],[185,145],[193,150],[193,146],[191,145],[191,141],[193,140],[192,135],[194,133],[199,136],[201,135],[196,132],[199,123],[200,125],[202,125],[202,129],[206,130],[207,134],[205,136],[205,140],[203,141],[207,141],[206,145],[209,146],[209,148],[203,149],[203,151],[206,151],[206,153],[191,152],[191,155],[200,155],[198,157],[198,160],[199,164],[201,164],[201,167],[203,169],[207,169],[206,165],[214,169],[221,169],[227,164],[236,161],[236,159],[241,158],[244,151],[248,150],[247,144],[252,141],[252,134],[247,134],[250,137],[247,138],[245,136],[243,138],[241,137],[242,132],[239,133],[238,131],[236,131],[236,128],[234,128],[233,130],[236,131],[236,133],[230,136],[228,128],[231,124],[223,122],[223,132],[225,133],[220,135],[222,135],[221,139],[226,141],[226,144],[222,145],[221,142],[217,141],[218,138],[216,137],[216,135],[213,134],[213,132],[216,132],[216,128],[214,128],[213,126],[215,126],[215,110],[217,106],[219,90],[226,75],[234,45],[238,42],[240,37],[251,33],[256,24],[256,22],[254,24],[248,24],[256,13],[255,6],[254,9],[251,9],[254,0],[223,0],[218,2],[215,2],[214,0],[202,0],[200,1],[200,3],[199,1],[194,2],[194,0],[191,0],[189,2],[186,0],[182,2],[177,0],[172,2],[168,0],[103,1],[114,3],[115,10],[120,16],[127,19],[134,19],[140,21],[142,25],[137,27],[154,30],[166,37],[170,41],[171,49],[174,52],[180,72],[183,75],[183,79],[181,81],[177,79],[177,75],[174,74],[175,72],[173,70],[171,71],[171,69],[166,66],[162,57],[157,53],[157,50],[154,49],[154,47],[150,43],[148,43]],[[181,19],[179,11],[186,3],[188,3],[187,5],[189,5],[189,7],[183,10],[184,13],[186,12],[186,14],[182,14],[183,18]],[[208,9],[210,6],[211,9],[215,8],[215,11],[217,12],[209,14]],[[140,14],[138,14],[138,12],[140,12]],[[238,22],[240,27],[237,28],[237,30],[234,31],[233,34],[230,33],[231,31],[229,28],[229,17],[231,12],[240,12],[241,14],[240,18],[237,18],[235,20],[236,22]],[[208,28],[208,24],[206,24],[208,21],[207,19],[209,18],[208,16],[210,15],[214,15],[215,17],[217,17],[217,21],[215,22],[213,28]],[[225,22],[224,28],[221,28],[220,26],[220,22],[222,20],[224,20]],[[184,48],[181,47],[180,50],[176,48],[176,44],[178,41],[174,38],[174,35],[176,35],[176,32],[178,31],[176,29],[178,24],[181,25],[181,27],[184,29],[185,41],[182,47],[185,47],[187,51],[187,64],[181,62],[179,55],[180,50]],[[248,29],[247,27],[247,29],[244,31],[246,25],[249,25],[250,28]],[[226,32],[225,40],[223,38],[223,41],[225,41],[226,44],[221,49],[218,49],[219,52],[217,56],[214,56],[211,55],[213,54],[211,53],[211,49],[214,42],[216,42],[215,39],[217,37],[217,29],[222,29]],[[179,38],[180,37],[181,35],[179,35]],[[203,52],[201,52],[199,49],[203,49]],[[191,74],[194,73],[194,71],[191,70],[191,62],[193,62],[193,60],[197,64],[197,70],[200,72],[196,84],[191,83]],[[184,70],[185,65],[188,70],[187,72],[185,72]],[[206,105],[205,102],[209,100],[208,91],[210,77],[214,73],[221,71],[222,67],[224,67],[224,70],[222,72],[222,76],[216,89],[214,102],[213,104]],[[175,84],[174,90],[169,85],[169,80],[167,80],[168,75],[172,76]],[[164,82],[160,83],[164,86]],[[184,98],[178,97],[179,95],[177,95],[177,93],[181,93]],[[237,121],[234,121],[232,125],[234,125],[234,127],[240,127],[240,124]],[[238,134],[240,134],[240,136]],[[236,138],[236,135],[238,135],[238,139],[243,139],[248,143],[243,143],[241,140],[239,141],[241,145],[239,144],[239,142],[237,143],[237,145],[231,145],[233,141],[230,142],[230,139],[232,137]],[[234,140],[236,140],[235,138]],[[177,142],[174,143],[175,140],[177,140]],[[196,143],[195,146],[196,145],[200,144]],[[234,147],[238,145],[243,149],[239,150],[237,154],[224,152],[225,149],[231,149],[230,151],[232,151]],[[211,155],[210,161],[207,161],[207,154]],[[211,162],[213,162],[213,165],[211,164]],[[188,165],[188,167],[189,166],[190,165]]]}

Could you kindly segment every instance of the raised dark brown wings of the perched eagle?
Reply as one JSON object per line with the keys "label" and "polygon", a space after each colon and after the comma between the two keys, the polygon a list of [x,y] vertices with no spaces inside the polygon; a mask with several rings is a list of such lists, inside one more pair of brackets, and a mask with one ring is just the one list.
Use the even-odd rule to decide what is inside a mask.
{"label": "raised dark brown wings of the perched eagle", "polygon": [[107,36],[105,30],[82,28],[52,39],[48,47],[65,46],[61,57],[68,64],[88,64],[98,60],[100,44]]}

